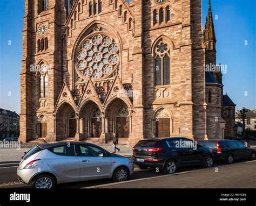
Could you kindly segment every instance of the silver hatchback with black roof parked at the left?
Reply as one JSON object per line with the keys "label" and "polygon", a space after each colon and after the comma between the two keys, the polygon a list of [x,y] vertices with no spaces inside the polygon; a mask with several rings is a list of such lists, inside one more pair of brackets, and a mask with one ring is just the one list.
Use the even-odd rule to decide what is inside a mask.
{"label": "silver hatchback with black roof parked at the left", "polygon": [[125,181],[133,173],[129,158],[90,143],[39,144],[25,153],[17,169],[18,180],[33,188],[53,188],[57,183],[113,179]]}

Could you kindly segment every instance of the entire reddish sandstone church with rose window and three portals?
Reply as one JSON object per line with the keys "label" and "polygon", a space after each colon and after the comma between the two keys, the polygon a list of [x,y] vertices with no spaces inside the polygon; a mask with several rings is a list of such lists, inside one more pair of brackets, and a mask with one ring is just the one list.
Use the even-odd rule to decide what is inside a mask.
{"label": "entire reddish sandstone church with rose window and three portals", "polygon": [[25,0],[20,139],[232,138],[211,12],[203,30],[201,0]]}

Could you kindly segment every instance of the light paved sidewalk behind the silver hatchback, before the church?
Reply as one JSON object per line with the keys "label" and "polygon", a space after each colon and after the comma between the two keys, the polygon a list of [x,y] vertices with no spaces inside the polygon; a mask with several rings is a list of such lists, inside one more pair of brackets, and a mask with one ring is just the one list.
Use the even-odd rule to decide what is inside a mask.
{"label": "light paved sidewalk behind the silver hatchback, before the church", "polygon": [[[111,153],[113,152],[112,144],[97,145]],[[35,144],[25,143],[21,145],[21,148],[19,150],[17,150],[16,148],[0,148],[0,162],[21,161],[21,157],[23,156],[24,152],[28,152],[33,146],[35,146]],[[118,148],[120,148],[120,152],[117,152],[116,154],[125,157],[131,157],[133,146],[134,145],[118,145]]]}

